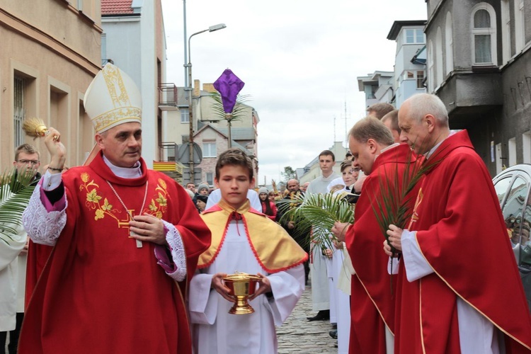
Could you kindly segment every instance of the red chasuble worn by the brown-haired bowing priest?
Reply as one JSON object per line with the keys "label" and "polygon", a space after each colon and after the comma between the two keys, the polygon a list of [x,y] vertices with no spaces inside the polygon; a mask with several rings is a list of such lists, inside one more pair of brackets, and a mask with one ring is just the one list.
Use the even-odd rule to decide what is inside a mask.
{"label": "red chasuble worn by the brown-haired bowing priest", "polygon": [[[356,274],[350,293],[349,353],[386,353],[385,327],[394,332],[394,293],[396,278],[387,271],[389,257],[383,251],[384,234],[378,226],[375,210],[381,202],[381,185],[399,188],[407,165],[416,161],[407,144],[400,144],[375,160],[372,172],[363,182],[354,210],[354,224],[346,234],[346,245]],[[413,204],[413,203],[411,203]],[[412,207],[413,205],[411,205]],[[375,209],[373,209],[373,207]]]}

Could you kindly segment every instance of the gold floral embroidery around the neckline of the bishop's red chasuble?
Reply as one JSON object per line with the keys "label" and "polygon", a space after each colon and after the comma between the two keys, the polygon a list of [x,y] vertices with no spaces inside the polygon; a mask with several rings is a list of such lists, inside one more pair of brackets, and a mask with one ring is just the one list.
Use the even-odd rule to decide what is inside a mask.
{"label": "gold floral embroidery around the neckline of the bishop's red chasuble", "polygon": [[[94,183],[94,180],[91,179],[89,173],[81,173],[81,181],[83,181],[83,183],[79,185],[79,191],[86,191],[85,205],[89,210],[94,210],[94,220],[98,221],[98,219],[111,217],[116,220],[118,228],[129,229],[129,222],[131,221],[131,216],[135,215],[135,209],[122,210],[123,208],[119,202],[118,207],[110,204],[108,198],[106,198],[101,190],[99,190],[100,186],[97,183]],[[149,205],[145,207],[144,210],[141,210],[138,215],[147,213],[158,219],[162,219],[167,208],[167,185],[164,180],[159,178]],[[122,212],[124,213],[123,217]]]}

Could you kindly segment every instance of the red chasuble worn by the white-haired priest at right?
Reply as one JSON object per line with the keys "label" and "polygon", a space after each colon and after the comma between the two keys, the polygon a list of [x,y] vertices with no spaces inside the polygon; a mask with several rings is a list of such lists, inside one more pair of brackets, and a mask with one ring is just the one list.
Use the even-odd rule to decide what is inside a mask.
{"label": "red chasuble worn by the white-haired priest at right", "polygon": [[395,353],[459,353],[457,297],[505,334],[507,353],[528,353],[531,316],[484,162],[464,130],[429,160],[440,163],[421,182],[409,229],[435,273],[408,282],[399,269]]}

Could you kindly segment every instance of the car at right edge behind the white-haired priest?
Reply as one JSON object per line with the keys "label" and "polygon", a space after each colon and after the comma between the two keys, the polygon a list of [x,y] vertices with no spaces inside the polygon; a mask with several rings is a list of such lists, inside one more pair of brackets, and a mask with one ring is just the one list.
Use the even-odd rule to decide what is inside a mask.
{"label": "car at right edge behind the white-haired priest", "polygon": [[531,164],[511,166],[492,181],[531,309]]}

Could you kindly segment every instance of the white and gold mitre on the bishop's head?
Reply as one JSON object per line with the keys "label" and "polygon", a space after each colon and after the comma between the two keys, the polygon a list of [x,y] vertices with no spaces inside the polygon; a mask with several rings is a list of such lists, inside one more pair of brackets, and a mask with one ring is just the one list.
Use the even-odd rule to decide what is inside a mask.
{"label": "white and gold mitre on the bishop's head", "polygon": [[142,96],[135,81],[110,63],[86,89],[84,107],[98,134],[123,123],[142,123]]}

